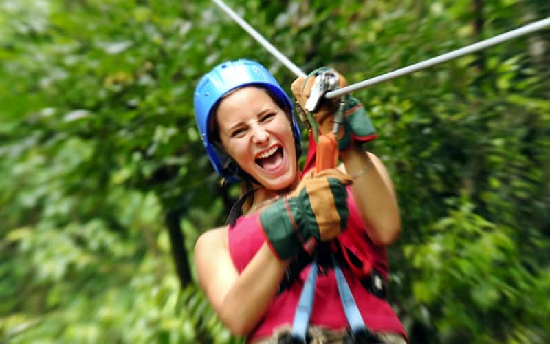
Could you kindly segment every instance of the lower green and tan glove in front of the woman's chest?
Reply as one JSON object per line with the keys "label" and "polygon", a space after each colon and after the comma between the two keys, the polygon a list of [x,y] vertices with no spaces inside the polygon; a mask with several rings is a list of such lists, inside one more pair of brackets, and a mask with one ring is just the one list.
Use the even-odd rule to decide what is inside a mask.
{"label": "lower green and tan glove in front of the woman's chest", "polygon": [[303,178],[296,190],[260,213],[265,238],[280,259],[303,248],[310,255],[319,241],[330,241],[347,228],[346,185],[351,177],[338,169]]}

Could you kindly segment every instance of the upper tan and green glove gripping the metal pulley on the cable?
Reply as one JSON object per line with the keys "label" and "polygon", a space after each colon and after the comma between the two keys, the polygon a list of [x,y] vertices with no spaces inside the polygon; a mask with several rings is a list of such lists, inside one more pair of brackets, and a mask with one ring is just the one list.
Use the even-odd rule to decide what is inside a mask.
{"label": "upper tan and green glove gripping the metal pulley on the cable", "polygon": [[[305,103],[309,99],[311,94],[311,87],[314,85],[316,76],[323,72],[331,71],[338,75],[338,87],[346,87],[348,85],[347,80],[340,75],[336,70],[321,67],[311,72],[307,77],[300,76],[294,83],[292,83],[292,93],[298,100],[300,107],[305,109]],[[343,151],[347,149],[351,142],[369,142],[374,140],[377,136],[376,131],[371,122],[371,118],[366,114],[366,111],[362,103],[352,96],[343,96],[343,100],[346,102],[344,106],[344,122],[340,125],[338,131],[338,149]],[[340,105],[340,98],[326,99],[323,98],[320,106],[313,114],[314,120],[317,122],[319,130],[322,134],[327,134],[333,129],[334,115],[338,111]]]}

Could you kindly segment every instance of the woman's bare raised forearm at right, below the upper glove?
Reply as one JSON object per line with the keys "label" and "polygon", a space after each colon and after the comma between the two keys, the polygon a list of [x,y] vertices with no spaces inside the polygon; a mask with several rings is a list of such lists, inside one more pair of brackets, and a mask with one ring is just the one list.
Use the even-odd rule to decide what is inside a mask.
{"label": "woman's bare raised forearm at right, below the upper glove", "polygon": [[393,243],[401,231],[401,219],[386,167],[376,155],[353,144],[340,156],[347,173],[357,175],[351,191],[363,222],[369,225],[369,237],[375,244]]}

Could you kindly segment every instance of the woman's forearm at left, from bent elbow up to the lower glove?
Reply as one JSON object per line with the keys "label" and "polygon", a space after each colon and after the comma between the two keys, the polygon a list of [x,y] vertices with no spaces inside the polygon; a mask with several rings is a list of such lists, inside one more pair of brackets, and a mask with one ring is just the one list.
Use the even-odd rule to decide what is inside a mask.
{"label": "woman's forearm at left, from bent elbow up to the lower glove", "polygon": [[263,244],[225,295],[219,316],[236,335],[248,334],[267,311],[287,268]]}

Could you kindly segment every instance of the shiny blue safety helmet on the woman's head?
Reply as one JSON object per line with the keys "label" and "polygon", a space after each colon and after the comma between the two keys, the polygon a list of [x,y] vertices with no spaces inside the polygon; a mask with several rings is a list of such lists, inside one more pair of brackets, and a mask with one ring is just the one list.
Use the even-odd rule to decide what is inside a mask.
{"label": "shiny blue safety helmet on the woman's head", "polygon": [[208,158],[212,162],[216,172],[230,182],[239,180],[236,164],[231,164],[232,159],[219,147],[214,147],[214,142],[209,136],[210,120],[212,118],[212,109],[214,109],[219,100],[228,92],[243,86],[257,85],[265,87],[283,102],[290,109],[292,131],[296,144],[296,155],[300,155],[301,133],[294,116],[294,106],[292,100],[285,93],[281,85],[277,83],[270,72],[257,62],[250,60],[228,61],[217,65],[205,74],[197,88],[195,88],[195,120],[201,133],[201,140],[206,148]]}

